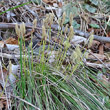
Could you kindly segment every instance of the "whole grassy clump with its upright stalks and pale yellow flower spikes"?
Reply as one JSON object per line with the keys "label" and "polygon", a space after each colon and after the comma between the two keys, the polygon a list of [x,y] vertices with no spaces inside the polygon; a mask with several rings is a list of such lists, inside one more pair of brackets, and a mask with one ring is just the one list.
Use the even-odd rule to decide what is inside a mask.
{"label": "whole grassy clump with its upright stalks and pale yellow flower spikes", "polygon": [[[102,88],[100,88],[97,83],[90,80],[94,79],[98,82],[96,73],[84,66],[82,62],[84,55],[82,55],[79,46],[76,47],[70,57],[71,63],[61,69],[62,62],[68,57],[66,53],[70,48],[69,39],[74,35],[72,27],[69,37],[62,45],[64,49],[58,50],[60,56],[56,56],[54,67],[48,63],[48,58],[45,57],[45,40],[48,38],[48,34],[45,26],[42,29],[43,48],[38,57],[40,62],[34,61],[32,45],[30,45],[26,53],[29,57],[20,57],[21,79],[17,82],[16,89],[14,89],[16,96],[31,104],[14,100],[15,105],[12,108],[15,109],[15,106],[17,106],[17,109],[20,110],[35,110],[35,107],[39,110],[107,110],[109,107],[106,104],[110,100],[106,98],[106,94],[109,96],[108,91],[110,89],[104,89],[102,84]],[[19,34],[19,31],[16,32],[23,36],[23,34]],[[22,55],[23,37],[20,37],[19,41],[20,55]],[[32,59],[31,56],[33,56]]]}

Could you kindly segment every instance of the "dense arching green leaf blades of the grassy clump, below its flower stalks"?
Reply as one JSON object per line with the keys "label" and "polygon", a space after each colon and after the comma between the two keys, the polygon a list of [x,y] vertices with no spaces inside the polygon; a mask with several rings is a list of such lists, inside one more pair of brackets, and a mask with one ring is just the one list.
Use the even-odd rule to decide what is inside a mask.
{"label": "dense arching green leaf blades of the grassy clump, below its flower stalks", "polygon": [[[104,103],[99,100],[100,97],[105,97],[103,90],[99,91],[100,88],[97,88],[87,76],[84,78],[83,75],[85,73],[83,71],[79,71],[82,75],[75,72],[71,77],[68,75],[65,78],[62,72],[55,70],[50,65],[34,63],[32,77],[30,77],[29,69],[27,68],[24,99],[40,108],[40,110],[106,110]],[[86,71],[89,72],[87,69]],[[89,72],[88,75],[92,74],[92,72]],[[95,76],[92,75],[92,77]],[[17,83],[17,96],[21,96],[21,87],[19,86],[21,84],[22,81]],[[18,109],[35,108],[20,102]]]}

